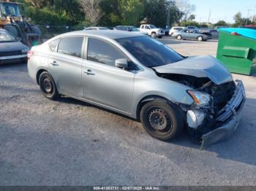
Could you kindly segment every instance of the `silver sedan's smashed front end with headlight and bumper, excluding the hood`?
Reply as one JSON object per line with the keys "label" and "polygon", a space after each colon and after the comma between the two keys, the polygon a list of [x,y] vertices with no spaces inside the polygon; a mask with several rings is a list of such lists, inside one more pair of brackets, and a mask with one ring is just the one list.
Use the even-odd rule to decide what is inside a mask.
{"label": "silver sedan's smashed front end with headlight and bumper, excluding the hood", "polygon": [[236,130],[246,98],[244,85],[240,80],[234,82],[231,79],[217,85],[208,77],[158,75],[192,87],[187,93],[194,104],[180,106],[187,114],[189,134],[201,142],[201,149],[229,138]]}

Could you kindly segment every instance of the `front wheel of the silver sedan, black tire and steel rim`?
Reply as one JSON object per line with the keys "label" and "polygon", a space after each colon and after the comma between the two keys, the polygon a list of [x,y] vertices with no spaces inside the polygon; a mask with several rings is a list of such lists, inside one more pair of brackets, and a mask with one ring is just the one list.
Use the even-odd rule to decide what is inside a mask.
{"label": "front wheel of the silver sedan, black tire and steel rim", "polygon": [[160,141],[174,139],[184,128],[183,114],[178,106],[157,99],[146,103],[140,111],[140,122],[146,132]]}

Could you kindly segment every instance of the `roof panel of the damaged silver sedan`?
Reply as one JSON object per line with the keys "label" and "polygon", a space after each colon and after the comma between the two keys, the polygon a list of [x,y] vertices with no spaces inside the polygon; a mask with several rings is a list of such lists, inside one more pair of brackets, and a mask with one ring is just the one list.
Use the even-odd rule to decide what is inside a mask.
{"label": "roof panel of the damaged silver sedan", "polygon": [[75,36],[75,35],[86,35],[94,37],[105,37],[108,39],[124,39],[130,37],[145,36],[140,33],[130,33],[128,31],[113,31],[113,30],[102,30],[102,31],[74,31],[67,34],[62,34],[60,36]]}

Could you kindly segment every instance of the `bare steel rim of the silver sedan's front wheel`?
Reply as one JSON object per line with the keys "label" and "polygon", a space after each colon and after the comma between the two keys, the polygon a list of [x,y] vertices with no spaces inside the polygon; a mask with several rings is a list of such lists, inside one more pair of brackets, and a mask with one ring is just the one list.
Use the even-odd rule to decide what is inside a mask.
{"label": "bare steel rim of the silver sedan's front wheel", "polygon": [[167,130],[171,127],[170,117],[162,109],[151,109],[148,121],[154,130]]}

